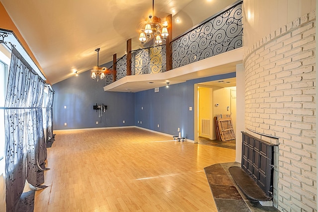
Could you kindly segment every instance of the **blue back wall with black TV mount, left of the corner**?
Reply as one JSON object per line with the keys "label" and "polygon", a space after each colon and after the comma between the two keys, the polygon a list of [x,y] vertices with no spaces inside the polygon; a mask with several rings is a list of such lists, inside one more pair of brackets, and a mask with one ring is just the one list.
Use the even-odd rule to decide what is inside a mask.
{"label": "blue back wall with black TV mount, left of the corner", "polygon": [[[90,71],[54,84],[54,130],[134,126],[135,94],[105,92],[104,86],[105,79],[98,82],[91,79]],[[107,105],[100,118],[93,110],[96,103]]]}

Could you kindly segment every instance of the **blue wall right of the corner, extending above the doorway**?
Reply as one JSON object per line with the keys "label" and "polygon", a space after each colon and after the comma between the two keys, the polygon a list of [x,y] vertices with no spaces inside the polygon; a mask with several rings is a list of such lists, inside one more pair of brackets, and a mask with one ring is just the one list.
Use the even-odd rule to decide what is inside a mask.
{"label": "blue wall right of the corner, extending above the doorway", "polygon": [[[193,79],[169,85],[169,88],[160,87],[156,93],[154,89],[137,92],[135,126],[170,135],[177,135],[177,128],[180,128],[183,137],[194,140],[194,84],[235,76],[233,72]],[[192,107],[192,111],[189,111],[189,107]]]}

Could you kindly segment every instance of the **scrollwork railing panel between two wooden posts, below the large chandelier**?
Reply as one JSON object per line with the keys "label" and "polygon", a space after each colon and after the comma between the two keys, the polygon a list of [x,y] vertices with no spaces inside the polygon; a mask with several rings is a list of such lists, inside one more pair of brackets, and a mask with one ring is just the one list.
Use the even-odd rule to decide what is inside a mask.
{"label": "scrollwork railing panel between two wooden posts, below the large chandelier", "polygon": [[166,69],[165,45],[132,51],[133,75],[159,73]]}

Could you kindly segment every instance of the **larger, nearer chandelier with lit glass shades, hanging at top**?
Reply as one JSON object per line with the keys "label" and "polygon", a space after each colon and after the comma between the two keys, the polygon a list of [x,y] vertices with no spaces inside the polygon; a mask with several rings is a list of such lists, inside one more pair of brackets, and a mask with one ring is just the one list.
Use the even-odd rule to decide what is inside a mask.
{"label": "larger, nearer chandelier with lit glass shades, hanging at top", "polygon": [[[153,0],[153,14],[154,14],[154,4],[155,0]],[[145,28],[142,29],[139,34],[139,40],[142,44],[148,42],[148,40],[154,36],[154,42],[157,45],[162,43],[162,40],[165,40],[169,35],[167,30],[168,23],[164,21],[161,23],[161,18],[158,16],[149,15],[149,18],[146,20]]]}

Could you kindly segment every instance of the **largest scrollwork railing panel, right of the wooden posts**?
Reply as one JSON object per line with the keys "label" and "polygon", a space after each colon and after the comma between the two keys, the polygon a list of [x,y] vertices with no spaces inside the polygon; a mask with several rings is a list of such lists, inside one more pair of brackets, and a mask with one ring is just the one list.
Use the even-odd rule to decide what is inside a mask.
{"label": "largest scrollwork railing panel, right of the wooden posts", "polygon": [[172,69],[242,46],[242,1],[171,42]]}

